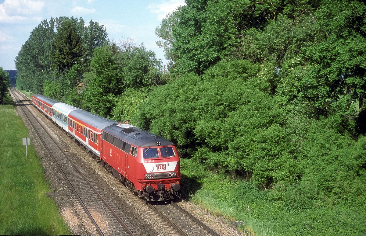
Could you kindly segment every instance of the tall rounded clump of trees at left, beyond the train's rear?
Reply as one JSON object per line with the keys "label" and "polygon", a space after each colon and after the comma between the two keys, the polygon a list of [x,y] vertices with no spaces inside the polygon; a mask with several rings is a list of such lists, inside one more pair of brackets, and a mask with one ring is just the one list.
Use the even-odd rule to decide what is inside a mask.
{"label": "tall rounded clump of trees at left, beyond the train's rear", "polygon": [[[47,80],[55,81],[57,78],[57,80],[61,80],[62,84],[70,85],[70,83],[62,81],[66,77],[59,72],[62,70],[62,73],[67,74],[74,64],[79,65],[78,70],[81,71],[79,75],[82,75],[86,70],[87,60],[91,57],[91,51],[107,42],[104,26],[99,26],[98,23],[92,21],[89,22],[88,27],[84,24],[82,18],[65,16],[42,21],[31,32],[29,39],[16,57],[17,86],[42,94],[43,85]],[[70,38],[67,38],[67,34]],[[65,41],[62,42],[62,40]],[[58,60],[56,58],[62,61],[55,61]],[[84,66],[81,62],[84,62]],[[74,89],[77,87],[64,88],[65,91]]]}

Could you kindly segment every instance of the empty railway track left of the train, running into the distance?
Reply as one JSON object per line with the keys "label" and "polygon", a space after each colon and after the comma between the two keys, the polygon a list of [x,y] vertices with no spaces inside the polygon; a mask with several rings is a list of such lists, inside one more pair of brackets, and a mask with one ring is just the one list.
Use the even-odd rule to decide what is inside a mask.
{"label": "empty railway track left of the train, running into the distance", "polygon": [[[120,218],[119,214],[113,210],[112,206],[108,204],[107,200],[102,197],[96,187],[94,187],[86,175],[83,174],[82,169],[77,165],[77,163],[72,161],[72,159],[64,151],[63,147],[61,147],[56,142],[56,140],[52,138],[52,135],[49,134],[49,132],[46,131],[38,122],[38,120],[32,115],[29,109],[29,105],[31,106],[31,103],[28,101],[27,104],[27,102],[21,98],[23,95],[19,92],[16,92],[16,90],[11,90],[11,93],[12,97],[16,99],[16,103],[20,105],[20,108],[30,121],[34,131],[44,144],[46,150],[51,155],[55,164],[57,167],[59,167],[61,174],[72,189],[86,214],[89,216],[91,222],[94,224],[94,234],[135,235],[135,233],[132,231],[133,229],[130,229],[132,225],[128,226],[128,223],[126,224],[124,220]],[[100,213],[103,213],[103,216],[107,217],[98,217]],[[102,231],[102,227],[99,225],[108,225],[108,227],[104,227]],[[131,228],[134,228],[134,231],[137,232],[136,227]]]}

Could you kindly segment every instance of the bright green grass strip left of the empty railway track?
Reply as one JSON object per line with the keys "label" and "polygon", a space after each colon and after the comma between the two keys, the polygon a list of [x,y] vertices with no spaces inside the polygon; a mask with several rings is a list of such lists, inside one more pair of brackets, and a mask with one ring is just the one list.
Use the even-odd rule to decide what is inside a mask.
{"label": "bright green grass strip left of the empty railway track", "polygon": [[15,111],[10,98],[0,106],[0,235],[70,235],[55,202],[44,195],[50,189],[32,145],[26,158],[22,138],[29,135]]}

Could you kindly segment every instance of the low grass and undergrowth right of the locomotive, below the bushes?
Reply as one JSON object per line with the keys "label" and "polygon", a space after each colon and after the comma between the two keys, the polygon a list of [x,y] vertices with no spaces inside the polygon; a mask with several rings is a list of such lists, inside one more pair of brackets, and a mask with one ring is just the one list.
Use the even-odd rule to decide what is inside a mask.
{"label": "low grass and undergrowth right of the locomotive, below the bushes", "polygon": [[361,190],[366,189],[365,173],[348,185],[352,195],[342,199],[315,192],[312,182],[260,190],[251,182],[207,171],[191,159],[181,160],[181,172],[182,197],[215,216],[239,221],[243,232],[261,236],[366,235],[366,194]]}

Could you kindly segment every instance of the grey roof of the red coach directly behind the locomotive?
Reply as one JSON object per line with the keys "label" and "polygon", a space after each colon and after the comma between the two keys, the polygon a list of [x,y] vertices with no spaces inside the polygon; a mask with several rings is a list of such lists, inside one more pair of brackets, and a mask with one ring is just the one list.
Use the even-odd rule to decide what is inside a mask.
{"label": "grey roof of the red coach directly behind the locomotive", "polygon": [[89,124],[92,127],[97,128],[99,130],[101,130],[109,125],[112,125],[112,124],[118,124],[116,121],[98,116],[96,114],[84,111],[82,109],[71,111],[69,115],[85,124]]}

